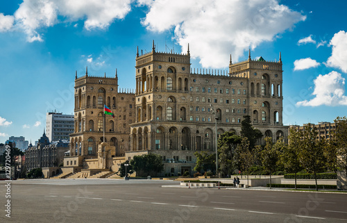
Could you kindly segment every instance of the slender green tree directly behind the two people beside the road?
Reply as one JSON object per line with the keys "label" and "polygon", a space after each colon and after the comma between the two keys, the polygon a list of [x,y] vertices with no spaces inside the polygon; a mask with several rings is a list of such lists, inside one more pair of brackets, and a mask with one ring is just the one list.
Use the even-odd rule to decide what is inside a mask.
{"label": "slender green tree directly behind the two people beside the road", "polygon": [[249,178],[249,170],[254,163],[253,154],[251,152],[249,141],[246,137],[242,138],[242,142],[237,145],[235,149],[235,156],[233,157],[233,163],[239,170],[247,174],[247,185]]}

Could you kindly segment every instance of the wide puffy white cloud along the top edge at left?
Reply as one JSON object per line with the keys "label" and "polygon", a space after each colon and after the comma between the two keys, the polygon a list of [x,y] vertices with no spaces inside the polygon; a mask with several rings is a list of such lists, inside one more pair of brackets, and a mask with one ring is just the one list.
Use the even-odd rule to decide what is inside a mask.
{"label": "wide puffy white cloud along the top edge at left", "polygon": [[[84,27],[89,31],[107,28],[115,19],[123,19],[130,12],[132,1],[104,0],[101,3],[99,0],[24,0],[15,12],[14,20],[26,33],[28,42],[43,41],[40,28],[65,20],[74,22],[85,19]],[[58,15],[62,21],[58,20]]]}

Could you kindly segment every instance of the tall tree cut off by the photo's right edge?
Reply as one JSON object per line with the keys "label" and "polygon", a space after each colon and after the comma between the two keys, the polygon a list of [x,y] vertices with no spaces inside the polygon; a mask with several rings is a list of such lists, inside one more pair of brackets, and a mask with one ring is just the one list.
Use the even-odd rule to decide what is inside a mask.
{"label": "tall tree cut off by the photo's right edge", "polygon": [[337,117],[335,131],[335,144],[337,152],[337,167],[347,174],[347,117]]}

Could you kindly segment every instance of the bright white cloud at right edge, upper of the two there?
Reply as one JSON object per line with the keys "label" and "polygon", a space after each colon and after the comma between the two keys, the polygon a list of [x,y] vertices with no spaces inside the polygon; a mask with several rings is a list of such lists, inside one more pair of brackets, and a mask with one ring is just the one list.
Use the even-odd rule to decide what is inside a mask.
{"label": "bright white cloud at right edge, upper of the two there", "polygon": [[335,33],[330,40],[330,46],[332,46],[332,53],[326,65],[339,68],[342,72],[347,73],[347,33],[345,31]]}

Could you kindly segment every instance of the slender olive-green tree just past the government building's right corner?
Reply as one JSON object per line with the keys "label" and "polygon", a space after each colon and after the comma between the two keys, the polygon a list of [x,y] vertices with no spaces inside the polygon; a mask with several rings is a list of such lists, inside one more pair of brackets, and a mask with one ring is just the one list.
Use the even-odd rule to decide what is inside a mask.
{"label": "slender olive-green tree just past the government building's right corner", "polygon": [[295,129],[289,130],[289,144],[280,149],[280,163],[285,167],[288,173],[295,175],[295,190],[296,190],[296,173],[302,170],[298,158],[299,148],[301,146],[301,133]]}

